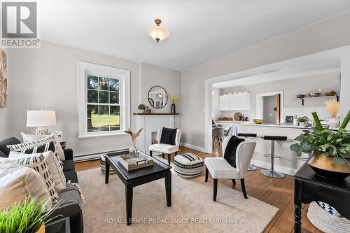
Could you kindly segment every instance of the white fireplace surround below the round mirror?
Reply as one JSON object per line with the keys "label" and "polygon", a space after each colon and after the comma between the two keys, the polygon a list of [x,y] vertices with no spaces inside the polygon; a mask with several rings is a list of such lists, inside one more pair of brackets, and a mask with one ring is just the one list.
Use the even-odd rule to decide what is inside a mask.
{"label": "white fireplace surround below the round mirror", "polygon": [[152,132],[158,132],[162,127],[174,128],[175,115],[135,115],[137,129],[144,128],[137,138],[139,149],[149,153],[148,147],[152,144]]}

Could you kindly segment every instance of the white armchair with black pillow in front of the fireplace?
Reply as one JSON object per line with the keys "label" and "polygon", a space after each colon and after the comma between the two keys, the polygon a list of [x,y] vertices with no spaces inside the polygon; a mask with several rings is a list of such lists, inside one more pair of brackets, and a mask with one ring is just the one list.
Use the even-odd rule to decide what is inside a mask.
{"label": "white armchair with black pillow in front of the fireplace", "polygon": [[150,155],[153,155],[153,152],[162,153],[162,156],[164,158],[164,155],[168,155],[168,164],[170,165],[170,161],[172,159],[172,154],[175,153],[177,155],[177,152],[179,151],[180,146],[180,139],[181,139],[181,129],[176,130],[176,137],[175,137],[175,145],[169,145],[160,143],[160,139],[162,138],[162,129],[158,129],[157,134],[157,144],[152,144],[149,147]]}

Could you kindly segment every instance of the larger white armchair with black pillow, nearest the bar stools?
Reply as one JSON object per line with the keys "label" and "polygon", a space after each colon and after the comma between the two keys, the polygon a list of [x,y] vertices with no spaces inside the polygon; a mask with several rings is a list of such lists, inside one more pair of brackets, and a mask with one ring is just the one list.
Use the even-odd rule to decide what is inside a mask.
{"label": "larger white armchair with black pillow, nearest the bar stools", "polygon": [[[223,140],[223,155],[225,154],[226,146],[230,141],[231,136],[227,136]],[[223,157],[207,157],[204,159],[205,164],[205,182],[208,181],[209,172],[214,181],[213,200],[216,202],[216,195],[218,192],[218,179],[232,179],[232,183],[236,184],[235,179],[241,180],[241,190],[244,198],[248,198],[246,195],[246,188],[244,185],[244,178],[248,170],[251,158],[253,157],[255,141],[244,141],[239,143],[236,150],[236,168],[232,167]]]}

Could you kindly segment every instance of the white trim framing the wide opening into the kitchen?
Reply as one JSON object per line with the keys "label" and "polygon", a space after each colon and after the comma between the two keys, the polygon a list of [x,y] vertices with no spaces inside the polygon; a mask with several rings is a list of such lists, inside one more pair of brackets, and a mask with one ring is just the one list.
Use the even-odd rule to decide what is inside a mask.
{"label": "white trim framing the wide opening into the kitchen", "polygon": [[[283,62],[275,62],[267,64],[265,66],[255,67],[253,69],[247,69],[244,71],[237,71],[235,73],[228,73],[223,76],[215,78],[209,78],[204,82],[204,152],[211,153],[212,140],[211,140],[211,112],[212,112],[212,94],[213,84],[221,83],[224,81],[246,78],[268,72],[271,70],[286,69],[293,66],[301,66],[308,62],[316,62],[324,59],[340,59],[340,72],[342,73],[341,86],[340,86],[340,115],[342,118],[346,115],[350,108],[350,91],[346,90],[346,86],[350,86],[350,45],[344,47],[335,48],[332,50],[326,50],[323,52],[317,52],[311,55],[305,55],[302,57],[296,57],[288,59]],[[342,101],[343,100],[343,101]],[[348,126],[350,127],[350,126]]]}

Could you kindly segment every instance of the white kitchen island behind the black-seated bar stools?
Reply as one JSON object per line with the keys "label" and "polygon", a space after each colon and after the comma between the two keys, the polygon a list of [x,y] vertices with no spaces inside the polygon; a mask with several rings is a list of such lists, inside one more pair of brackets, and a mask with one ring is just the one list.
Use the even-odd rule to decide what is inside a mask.
{"label": "white kitchen island behind the black-seated bar stools", "polygon": [[[270,157],[265,157],[264,154],[271,153],[271,141],[261,139],[265,135],[273,136],[287,136],[287,141],[281,141],[275,143],[275,155],[281,156],[280,159],[274,159],[274,170],[280,171],[283,174],[293,175],[299,169],[305,161],[298,160],[295,152],[290,150],[290,144],[295,143],[294,140],[298,135],[302,134],[302,130],[310,129],[300,126],[287,125],[287,124],[262,124],[256,125],[254,123],[239,124],[238,132],[246,134],[257,134],[255,140],[256,147],[251,160],[251,164],[269,169]],[[307,157],[307,154],[302,154],[302,157]]]}

